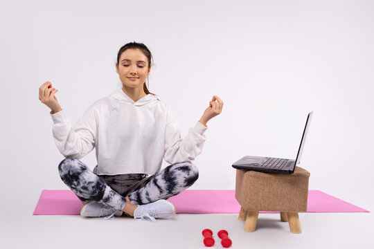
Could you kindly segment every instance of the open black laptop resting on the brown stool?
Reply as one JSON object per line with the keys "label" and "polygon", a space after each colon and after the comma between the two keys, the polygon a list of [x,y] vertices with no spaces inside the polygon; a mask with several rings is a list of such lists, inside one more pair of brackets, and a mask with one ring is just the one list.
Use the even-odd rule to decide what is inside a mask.
{"label": "open black laptop resting on the brown stool", "polygon": [[301,154],[305,145],[305,139],[312,120],[313,111],[308,114],[303,136],[301,137],[299,151],[297,152],[296,160],[286,158],[271,158],[263,156],[244,156],[240,160],[233,163],[235,169],[248,169],[259,172],[292,174],[295,166],[299,165]]}

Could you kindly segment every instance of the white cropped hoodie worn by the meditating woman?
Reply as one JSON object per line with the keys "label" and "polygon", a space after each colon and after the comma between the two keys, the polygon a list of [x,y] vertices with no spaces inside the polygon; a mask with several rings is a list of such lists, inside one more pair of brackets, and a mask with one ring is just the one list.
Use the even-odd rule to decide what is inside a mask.
{"label": "white cropped hoodie worn by the meditating woman", "polygon": [[80,159],[96,147],[99,175],[155,174],[163,158],[170,164],[195,160],[208,129],[197,122],[181,138],[178,120],[157,95],[134,102],[121,88],[91,104],[74,127],[64,110],[50,114],[61,154]]}

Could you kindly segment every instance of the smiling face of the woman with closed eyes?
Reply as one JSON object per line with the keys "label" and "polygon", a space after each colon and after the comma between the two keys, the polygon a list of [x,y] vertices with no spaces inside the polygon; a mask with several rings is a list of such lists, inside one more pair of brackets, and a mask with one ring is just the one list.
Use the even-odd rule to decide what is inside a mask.
{"label": "smiling face of the woman with closed eyes", "polygon": [[139,49],[126,49],[116,65],[116,72],[125,86],[143,89],[143,83],[150,75],[148,59]]}

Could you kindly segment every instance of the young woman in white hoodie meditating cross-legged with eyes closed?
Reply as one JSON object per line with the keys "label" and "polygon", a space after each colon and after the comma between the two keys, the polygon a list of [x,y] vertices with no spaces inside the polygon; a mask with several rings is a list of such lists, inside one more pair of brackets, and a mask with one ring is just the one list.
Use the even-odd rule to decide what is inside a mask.
{"label": "young woman in white hoodie meditating cross-legged with eyes closed", "polygon": [[[74,127],[52,83],[39,88],[39,100],[51,109],[55,144],[65,157],[58,165],[60,176],[84,203],[82,216],[168,219],[175,207],[166,199],[199,177],[191,160],[202,153],[206,123],[221,113],[223,102],[213,96],[202,118],[181,138],[179,122],[145,85],[151,59],[144,44],[125,44],[116,62],[122,88],[91,104]],[[80,158],[94,147],[98,165],[91,171]],[[163,159],[170,165],[160,170]]]}

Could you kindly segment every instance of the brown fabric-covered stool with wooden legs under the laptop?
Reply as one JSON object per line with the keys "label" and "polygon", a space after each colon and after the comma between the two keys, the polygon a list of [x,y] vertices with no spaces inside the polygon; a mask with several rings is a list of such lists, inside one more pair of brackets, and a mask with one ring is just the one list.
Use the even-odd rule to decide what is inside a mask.
{"label": "brown fabric-covered stool with wooden legs under the laptop", "polygon": [[293,174],[270,174],[236,169],[235,198],[244,231],[256,230],[259,211],[281,212],[293,233],[301,233],[299,212],[307,212],[310,173],[295,167]]}

